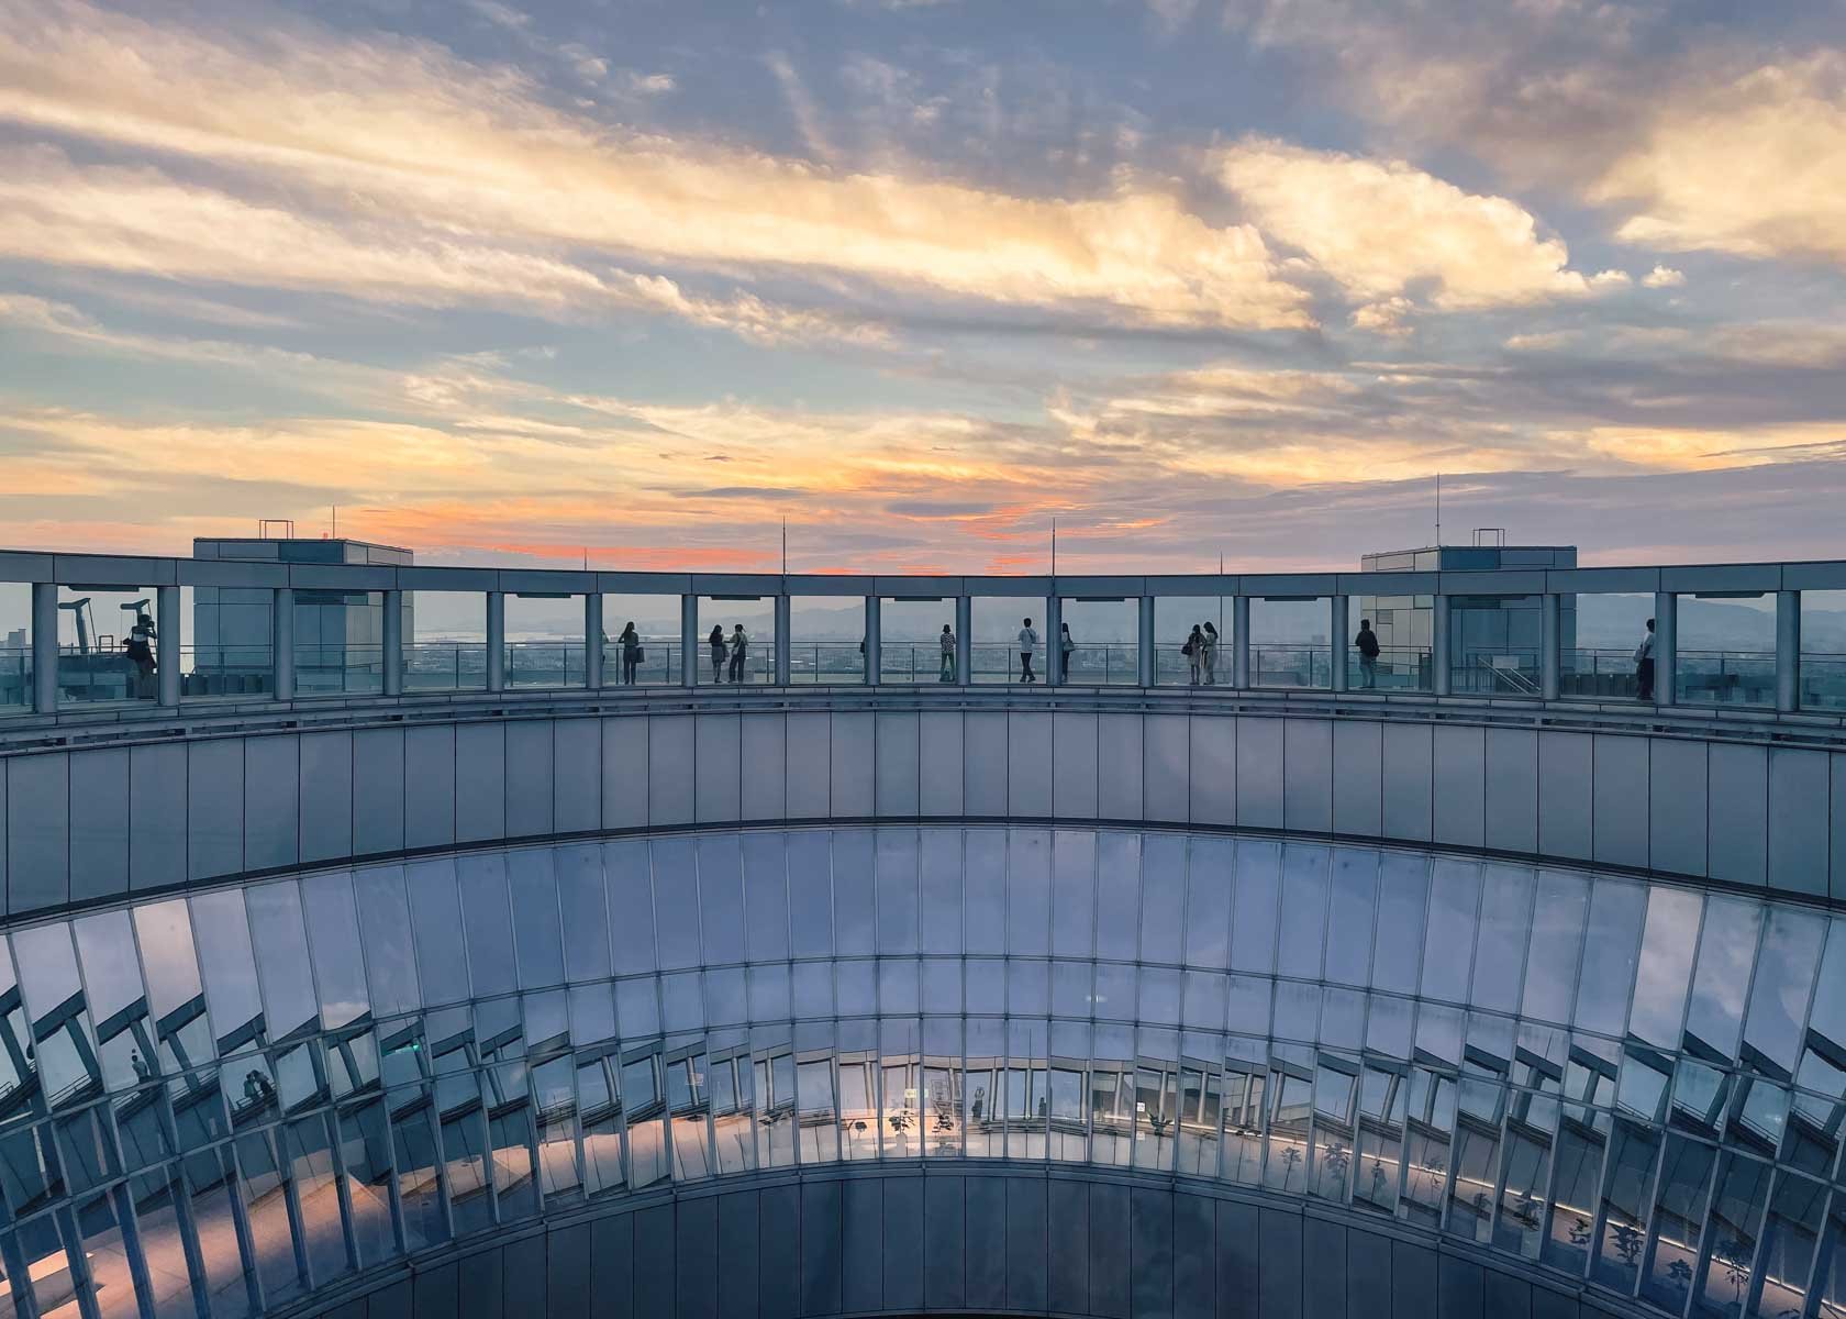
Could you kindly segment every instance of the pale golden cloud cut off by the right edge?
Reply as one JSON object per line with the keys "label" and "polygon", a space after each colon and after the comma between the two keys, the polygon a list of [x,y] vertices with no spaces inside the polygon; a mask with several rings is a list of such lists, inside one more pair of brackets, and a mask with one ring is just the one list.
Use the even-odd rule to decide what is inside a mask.
{"label": "pale golden cloud cut off by the right edge", "polygon": [[1678,89],[1589,198],[1637,246],[1846,264],[1846,55]]}

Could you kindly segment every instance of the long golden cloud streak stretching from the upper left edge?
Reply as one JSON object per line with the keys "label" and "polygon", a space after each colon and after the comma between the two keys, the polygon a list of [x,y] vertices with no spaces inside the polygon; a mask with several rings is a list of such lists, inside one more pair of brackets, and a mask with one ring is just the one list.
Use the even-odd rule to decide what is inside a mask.
{"label": "long golden cloud streak stretching from the upper left edge", "polygon": [[316,286],[360,296],[489,286],[556,305],[594,299],[581,253],[600,253],[1139,325],[1311,323],[1253,227],[1205,222],[1167,183],[1025,198],[648,137],[419,42],[212,37],[0,0],[0,118],[238,179],[233,194],[28,157],[6,201],[28,214],[13,246],[31,260],[234,279],[275,262],[284,284],[318,268]]}

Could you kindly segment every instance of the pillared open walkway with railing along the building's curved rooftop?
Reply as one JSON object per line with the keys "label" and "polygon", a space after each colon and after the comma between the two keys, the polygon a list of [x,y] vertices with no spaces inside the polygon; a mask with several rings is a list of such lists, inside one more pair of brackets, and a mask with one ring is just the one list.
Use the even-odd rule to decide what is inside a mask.
{"label": "pillared open walkway with railing along the building's curved rooftop", "polygon": [[[266,621],[268,635],[188,635],[196,617],[183,589],[236,593]],[[13,626],[6,591],[28,617]],[[485,635],[406,635],[404,610],[421,593],[473,595]],[[1846,562],[1730,563],[1689,567],[1503,569],[1469,573],[1298,573],[1200,576],[781,576],[674,575],[539,569],[439,569],[292,565],[271,562],[116,558],[0,552],[0,717],[57,715],[85,708],[172,708],[183,702],[402,696],[521,689],[620,689],[748,685],[999,685],[1013,687],[1200,687],[1425,693],[1506,700],[1645,700],[1656,706],[1737,706],[1846,711],[1846,654],[1831,634],[1804,645],[1804,599],[1840,593]],[[297,599],[299,595],[299,599]],[[1623,595],[1656,621],[1652,674],[1632,647],[1586,647],[1575,639],[1576,602]],[[94,597],[94,604],[90,602]],[[508,599],[581,604],[580,630],[554,637],[508,635]],[[1425,645],[1357,648],[1359,600],[1418,600]],[[1466,599],[1462,599],[1466,597]],[[30,599],[30,608],[26,600]],[[653,602],[652,624],[622,645],[604,617],[620,599]],[[834,635],[801,635],[792,602],[829,606]],[[1473,624],[1493,600],[1517,602],[1517,643],[1475,645]],[[1765,635],[1759,645],[1717,648],[1676,643],[1680,602],[1748,600]],[[329,604],[332,600],[334,604]],[[772,610],[742,654],[714,648],[707,628],[725,624],[727,600]],[[882,604],[912,619],[881,626]],[[1252,602],[1261,602],[1257,610]],[[1453,602],[1453,610],[1451,610]],[[1532,604],[1538,604],[1534,610]],[[297,610],[312,604],[312,617]],[[1157,613],[1156,606],[1163,611]],[[78,630],[83,608],[94,624]],[[364,606],[364,608],[358,608]],[[1174,608],[1176,606],[1176,608]],[[1207,608],[1211,606],[1211,608]],[[118,613],[118,608],[122,613]],[[354,634],[338,635],[340,610]],[[522,604],[522,610],[537,608]],[[574,604],[570,608],[576,608]],[[1370,606],[1368,606],[1370,608]],[[1704,604],[1700,604],[1704,608]],[[703,615],[701,615],[703,610]],[[1108,626],[1085,623],[1104,617]],[[1294,615],[1289,611],[1294,610]],[[1571,613],[1565,613],[1565,611]],[[1466,611],[1466,615],[1462,613]],[[840,637],[838,619],[860,615],[858,637]],[[1172,617],[1211,613],[1215,645],[1172,635]],[[1257,626],[1252,626],[1252,615]],[[934,619],[923,626],[917,615]],[[1453,626],[1451,626],[1453,615]],[[203,615],[198,615],[203,617]],[[615,617],[615,615],[611,615]],[[1292,624],[1279,617],[1305,619]],[[1469,619],[1464,632],[1462,617]],[[1508,611],[1508,619],[1514,611]],[[1006,623],[995,623],[1006,619]],[[1036,641],[1015,630],[1034,619]],[[1157,630],[1156,619],[1159,619]],[[1074,623],[1069,632],[1063,628]],[[705,624],[705,626],[701,626]],[[792,626],[794,624],[794,626]],[[203,628],[205,624],[199,624]],[[936,632],[947,626],[947,634]],[[1084,635],[1085,626],[1113,635]],[[1767,628],[1774,628],[1772,639]],[[297,630],[299,628],[299,630]],[[1268,628],[1268,634],[1265,634]],[[1124,635],[1130,634],[1132,635]],[[1536,632],[1538,635],[1528,635]],[[1606,632],[1606,628],[1604,628]],[[947,647],[943,645],[947,635]],[[1396,634],[1399,639],[1405,632]],[[1469,643],[1460,645],[1468,635]],[[1636,619],[1636,645],[1648,635]],[[1026,665],[1030,656],[1030,665]]]}

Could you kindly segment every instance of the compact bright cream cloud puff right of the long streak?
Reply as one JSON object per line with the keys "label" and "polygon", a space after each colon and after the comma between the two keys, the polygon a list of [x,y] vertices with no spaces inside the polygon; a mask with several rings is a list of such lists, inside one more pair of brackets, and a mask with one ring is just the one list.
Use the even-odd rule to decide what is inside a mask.
{"label": "compact bright cream cloud puff right of the long streak", "polygon": [[1626,281],[1619,272],[1571,270],[1564,240],[1541,238],[1519,203],[1464,192],[1403,161],[1244,139],[1215,163],[1266,235],[1373,307],[1364,327],[1394,327],[1401,299],[1420,286],[1436,309],[1480,310]]}

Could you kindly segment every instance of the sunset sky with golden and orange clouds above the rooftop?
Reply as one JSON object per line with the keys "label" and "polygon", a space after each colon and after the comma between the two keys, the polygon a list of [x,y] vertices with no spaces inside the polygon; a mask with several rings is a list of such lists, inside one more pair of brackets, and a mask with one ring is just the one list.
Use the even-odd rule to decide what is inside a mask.
{"label": "sunset sky with golden and orange clouds above the rooftop", "polygon": [[0,545],[1846,556],[1846,0],[0,0]]}

